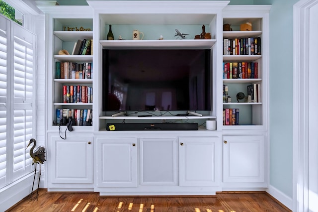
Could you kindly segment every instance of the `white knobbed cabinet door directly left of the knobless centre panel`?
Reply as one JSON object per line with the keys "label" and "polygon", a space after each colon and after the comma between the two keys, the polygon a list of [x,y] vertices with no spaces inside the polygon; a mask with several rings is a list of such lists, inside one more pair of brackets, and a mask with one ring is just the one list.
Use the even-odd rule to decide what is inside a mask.
{"label": "white knobbed cabinet door directly left of the knobless centre panel", "polygon": [[97,138],[97,187],[137,187],[137,139]]}

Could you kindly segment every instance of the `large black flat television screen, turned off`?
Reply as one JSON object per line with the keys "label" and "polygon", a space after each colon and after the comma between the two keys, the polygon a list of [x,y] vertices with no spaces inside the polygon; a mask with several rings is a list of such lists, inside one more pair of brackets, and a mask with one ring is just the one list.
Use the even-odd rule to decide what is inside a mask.
{"label": "large black flat television screen, turned off", "polygon": [[210,49],[103,49],[102,110],[211,110]]}

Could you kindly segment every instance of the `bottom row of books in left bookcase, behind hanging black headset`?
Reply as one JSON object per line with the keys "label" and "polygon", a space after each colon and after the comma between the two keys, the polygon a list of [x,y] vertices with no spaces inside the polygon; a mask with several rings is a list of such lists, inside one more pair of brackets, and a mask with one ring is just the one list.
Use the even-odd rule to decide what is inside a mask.
{"label": "bottom row of books in left bookcase, behind hanging black headset", "polygon": [[66,125],[74,119],[77,126],[91,126],[92,115],[92,109],[56,109],[56,123]]}

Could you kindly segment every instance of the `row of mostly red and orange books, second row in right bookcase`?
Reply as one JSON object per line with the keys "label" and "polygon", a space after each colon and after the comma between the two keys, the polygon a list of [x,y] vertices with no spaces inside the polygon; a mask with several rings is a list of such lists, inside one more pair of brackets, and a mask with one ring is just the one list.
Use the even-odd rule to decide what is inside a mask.
{"label": "row of mostly red and orange books, second row in right bookcase", "polygon": [[258,63],[224,62],[223,79],[258,79]]}

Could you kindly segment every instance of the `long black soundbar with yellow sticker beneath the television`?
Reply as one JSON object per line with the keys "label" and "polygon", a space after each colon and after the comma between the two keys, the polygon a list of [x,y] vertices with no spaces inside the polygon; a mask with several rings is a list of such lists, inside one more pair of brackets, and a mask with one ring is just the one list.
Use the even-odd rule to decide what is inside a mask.
{"label": "long black soundbar with yellow sticker beneath the television", "polygon": [[107,131],[123,130],[198,130],[198,123],[107,123]]}

